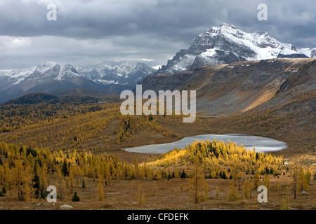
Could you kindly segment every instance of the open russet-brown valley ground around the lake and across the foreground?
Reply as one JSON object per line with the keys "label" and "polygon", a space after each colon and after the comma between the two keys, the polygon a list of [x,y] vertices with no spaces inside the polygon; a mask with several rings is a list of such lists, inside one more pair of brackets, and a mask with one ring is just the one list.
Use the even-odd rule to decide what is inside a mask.
{"label": "open russet-brown valley ground around the lake and across the foreground", "polygon": [[[102,112],[102,111],[101,111]],[[100,112],[100,118],[103,118],[103,112]],[[106,112],[106,111],[105,111]],[[92,114],[92,113],[91,113]],[[94,114],[94,113],[93,113]],[[67,119],[72,119],[67,118]],[[65,119],[65,120],[67,120]],[[92,118],[91,118],[92,119]],[[94,119],[94,118],[93,118]],[[113,119],[107,121],[106,128],[102,129],[100,134],[91,139],[86,139],[80,145],[82,148],[96,148],[93,153],[109,153],[113,154],[121,160],[121,162],[133,163],[134,158],[138,158],[139,162],[147,160],[154,160],[159,155],[143,154],[143,153],[127,153],[124,148],[133,146],[143,146],[147,144],[163,144],[171,141],[177,141],[183,137],[194,136],[198,134],[249,134],[260,137],[268,137],[277,139],[287,143],[289,148],[283,151],[271,153],[272,155],[283,155],[287,160],[294,161],[301,159],[301,165],[307,167],[314,166],[316,163],[315,151],[315,119],[311,123],[302,123],[298,125],[294,122],[294,116],[282,116],[282,113],[244,113],[241,116],[228,116],[212,118],[209,116],[200,115],[195,123],[185,124],[180,122],[182,118],[156,118],[157,124],[162,125],[171,133],[176,133],[172,137],[166,137],[163,132],[157,130],[140,129],[133,132],[131,139],[121,141],[118,143],[115,138],[120,128],[119,120]],[[178,122],[177,122],[178,119]],[[79,118],[78,118],[79,120]],[[179,121],[180,120],[180,121]],[[61,120],[63,122],[63,120]],[[74,120],[76,121],[76,120]],[[100,120],[97,120],[100,124]],[[138,120],[136,120],[137,123]],[[74,122],[70,120],[69,125]],[[44,123],[50,125],[50,123]],[[44,126],[43,125],[43,126]],[[33,137],[29,133],[37,134],[39,125],[30,125],[27,128],[22,128],[16,132],[4,132],[0,134],[0,140],[6,141],[8,144],[20,144],[27,140],[28,137]],[[44,126],[45,127],[45,126]],[[48,126],[51,127],[51,126]],[[54,127],[52,133],[64,128],[65,125]],[[151,127],[151,126],[150,126]],[[68,128],[68,127],[67,127]],[[34,132],[30,132],[34,130]],[[51,130],[51,129],[49,129]],[[94,126],[91,130],[94,130]],[[101,130],[101,129],[100,129]],[[46,132],[45,132],[46,133]],[[15,135],[16,134],[16,135]],[[44,132],[41,132],[44,134]],[[72,133],[69,134],[73,139]],[[10,141],[10,139],[14,139]],[[40,139],[40,138],[37,138]],[[47,140],[47,139],[46,139]],[[49,140],[49,139],[48,139]],[[46,148],[53,149],[54,143],[45,141]],[[212,140],[212,139],[211,139]],[[67,142],[67,141],[65,141]],[[73,142],[73,140],[72,140]],[[71,142],[71,144],[72,144]],[[27,145],[27,144],[26,144]],[[37,144],[38,146],[39,144]],[[75,147],[78,151],[79,146]],[[65,148],[72,148],[70,144],[65,144]],[[175,169],[175,167],[169,167]],[[183,167],[187,170],[187,167]],[[251,180],[251,175],[244,176],[244,179]],[[62,204],[70,204],[74,209],[312,209],[315,210],[316,200],[316,181],[311,179],[310,195],[301,195],[298,190],[297,199],[294,200],[291,189],[293,188],[293,178],[284,176],[270,177],[270,190],[268,202],[260,204],[257,201],[258,191],[253,189],[251,191],[251,198],[244,198],[242,188],[239,190],[239,182],[237,181],[235,189],[237,190],[237,200],[228,200],[228,192],[232,180],[228,179],[206,179],[209,193],[204,202],[195,204],[191,202],[190,191],[188,190],[189,183],[187,179],[171,179],[162,181],[128,181],[128,180],[113,180],[110,185],[104,186],[105,198],[101,202],[96,199],[96,186],[98,181],[87,179],[86,188],[81,188],[81,180],[78,180],[75,186],[80,202],[72,202],[73,192],[67,190],[66,198],[57,203],[49,204],[46,200],[32,199],[31,202],[18,202],[17,193],[15,190],[8,190],[5,197],[0,197],[0,209],[59,209]],[[145,202],[142,206],[136,202],[136,193],[139,184],[141,183],[143,193],[145,193]],[[261,183],[263,183],[263,176],[261,176]],[[242,183],[241,183],[242,184]],[[216,189],[219,190],[216,190]],[[288,195],[288,196],[287,196]]]}

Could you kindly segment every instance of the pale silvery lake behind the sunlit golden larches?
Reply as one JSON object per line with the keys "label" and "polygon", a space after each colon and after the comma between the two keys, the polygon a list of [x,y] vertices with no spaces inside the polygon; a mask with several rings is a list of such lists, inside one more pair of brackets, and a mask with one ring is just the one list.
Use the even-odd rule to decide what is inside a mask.
{"label": "pale silvery lake behind the sunlit golden larches", "polygon": [[152,153],[160,154],[173,150],[174,148],[185,148],[185,146],[192,144],[194,141],[213,141],[213,139],[225,141],[228,140],[235,142],[238,146],[241,144],[248,149],[256,149],[256,152],[272,152],[280,151],[284,148],[288,148],[287,144],[275,139],[269,139],[264,137],[256,137],[246,134],[202,134],[193,137],[185,137],[180,141],[175,141],[167,144],[147,145],[134,148],[126,148],[125,150],[133,153]]}

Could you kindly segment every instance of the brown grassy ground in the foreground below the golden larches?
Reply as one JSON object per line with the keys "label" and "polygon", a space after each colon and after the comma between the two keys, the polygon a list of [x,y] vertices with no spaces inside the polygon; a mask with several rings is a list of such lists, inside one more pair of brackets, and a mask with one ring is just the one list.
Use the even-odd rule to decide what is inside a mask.
{"label": "brown grassy ground in the foreground below the golden larches", "polygon": [[[251,179],[251,175],[244,176]],[[253,189],[251,197],[244,198],[239,183],[236,182],[237,196],[235,201],[228,200],[228,192],[232,180],[206,179],[209,187],[207,199],[195,204],[191,201],[190,190],[187,179],[171,179],[163,181],[112,181],[110,186],[105,186],[105,199],[101,202],[96,199],[96,184],[98,181],[89,179],[86,188],[77,184],[77,193],[80,202],[72,202],[73,193],[68,192],[65,200],[57,203],[48,203],[46,200],[33,199],[32,202],[17,202],[13,191],[0,200],[0,208],[8,210],[59,210],[62,204],[69,204],[74,210],[280,210],[280,209],[304,209],[315,210],[316,181],[310,182],[310,195],[305,196],[298,193],[294,200],[291,193],[291,180],[287,176],[270,178],[270,190],[268,202],[258,203],[259,192]],[[262,182],[262,181],[261,181]],[[145,202],[142,206],[136,202],[136,193],[139,184],[145,193]],[[279,187],[278,187],[279,185]],[[219,190],[216,190],[219,188]],[[279,190],[277,190],[279,188]],[[288,197],[286,196],[288,194]]]}

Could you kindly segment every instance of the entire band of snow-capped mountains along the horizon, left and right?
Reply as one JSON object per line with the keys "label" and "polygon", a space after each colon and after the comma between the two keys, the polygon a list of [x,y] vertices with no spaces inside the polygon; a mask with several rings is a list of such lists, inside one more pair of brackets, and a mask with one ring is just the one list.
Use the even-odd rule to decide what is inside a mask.
{"label": "entire band of snow-capped mountains along the horizon, left and right", "polygon": [[[298,48],[290,43],[277,41],[267,32],[246,33],[232,25],[223,24],[199,34],[190,48],[177,52],[176,56],[158,71],[143,63],[127,62],[119,66],[96,64],[91,68],[83,68],[66,63],[46,62],[19,71],[0,72],[0,103],[32,92],[62,95],[65,92],[84,94],[87,93],[86,90],[93,90],[99,92],[100,96],[100,92],[133,90],[137,83],[144,83],[144,78],[152,74],[175,74],[212,64],[285,57],[316,57],[316,48]],[[186,80],[177,81],[183,83]],[[157,83],[154,87],[160,86],[161,90],[169,90],[175,85],[177,83],[164,83],[164,86]],[[67,92],[71,89],[77,91]],[[78,91],[79,89],[85,91]]]}

